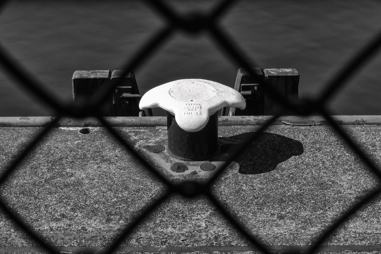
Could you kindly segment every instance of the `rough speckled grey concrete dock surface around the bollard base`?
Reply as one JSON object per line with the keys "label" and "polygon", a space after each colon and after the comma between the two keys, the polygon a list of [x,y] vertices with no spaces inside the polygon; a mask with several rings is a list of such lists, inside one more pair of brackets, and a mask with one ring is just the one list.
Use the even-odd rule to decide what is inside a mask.
{"label": "rough speckled grey concrete dock surface around the bollard base", "polygon": [[[259,128],[220,126],[219,137],[242,141]],[[380,166],[381,125],[341,128]],[[0,127],[2,172],[42,129]],[[53,128],[0,186],[8,206],[64,252],[109,246],[167,190],[106,129],[93,127],[89,135],[78,129]],[[115,129],[140,152],[166,139],[166,127]],[[308,249],[378,187],[378,178],[329,125],[274,125],[216,180],[213,195],[258,241],[283,253]],[[363,207],[323,243],[321,253],[380,253],[380,208],[380,198]],[[120,252],[256,253],[248,245],[205,196],[172,195],[123,241]],[[0,252],[42,250],[0,214]]]}

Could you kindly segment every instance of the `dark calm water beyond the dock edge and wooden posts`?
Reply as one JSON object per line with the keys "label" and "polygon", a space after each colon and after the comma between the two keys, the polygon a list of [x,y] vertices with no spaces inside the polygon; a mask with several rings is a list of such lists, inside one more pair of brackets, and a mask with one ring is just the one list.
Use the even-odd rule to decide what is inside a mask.
{"label": "dark calm water beyond the dock edge and wooden posts", "polygon": [[[168,1],[177,11],[209,11],[219,1]],[[0,42],[57,100],[72,100],[76,70],[120,69],[166,25],[143,1],[10,1],[0,13]],[[381,31],[380,1],[237,1],[221,26],[261,68],[295,68],[299,97],[317,96],[341,66]],[[208,34],[177,33],[141,68],[139,90],[200,78],[234,86],[235,63]],[[330,102],[332,114],[381,115],[381,55]],[[0,69],[0,116],[55,113]]]}

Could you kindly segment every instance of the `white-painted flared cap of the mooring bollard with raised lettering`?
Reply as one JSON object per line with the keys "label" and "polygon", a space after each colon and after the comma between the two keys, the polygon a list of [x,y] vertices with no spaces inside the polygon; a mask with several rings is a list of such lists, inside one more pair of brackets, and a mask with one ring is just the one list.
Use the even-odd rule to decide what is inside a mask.
{"label": "white-painted flared cap of the mooring bollard with raised lettering", "polygon": [[179,127],[197,132],[207,124],[209,116],[223,107],[246,107],[246,101],[236,90],[205,79],[180,79],[145,93],[139,108],[162,108],[175,116]]}

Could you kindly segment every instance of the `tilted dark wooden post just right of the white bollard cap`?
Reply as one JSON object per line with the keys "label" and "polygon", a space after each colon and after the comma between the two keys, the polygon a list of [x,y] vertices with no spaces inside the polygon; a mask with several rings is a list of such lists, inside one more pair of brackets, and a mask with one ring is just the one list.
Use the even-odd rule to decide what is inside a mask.
{"label": "tilted dark wooden post just right of the white bollard cap", "polygon": [[238,108],[230,108],[229,116],[263,116],[264,95],[263,84],[264,75],[261,68],[252,68],[257,77],[250,75],[243,68],[238,69],[237,78],[235,79],[234,89],[240,92],[246,100],[246,108],[240,110]]}

